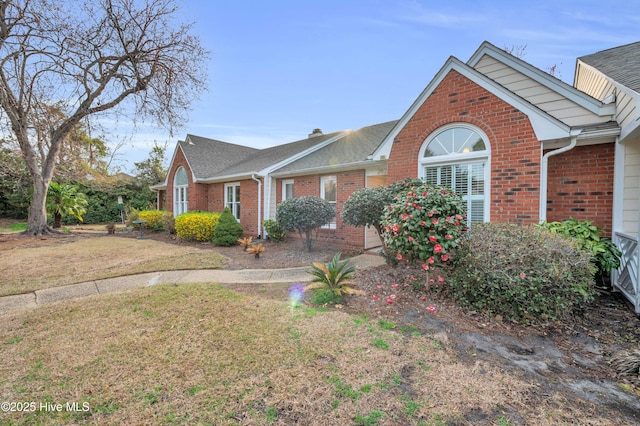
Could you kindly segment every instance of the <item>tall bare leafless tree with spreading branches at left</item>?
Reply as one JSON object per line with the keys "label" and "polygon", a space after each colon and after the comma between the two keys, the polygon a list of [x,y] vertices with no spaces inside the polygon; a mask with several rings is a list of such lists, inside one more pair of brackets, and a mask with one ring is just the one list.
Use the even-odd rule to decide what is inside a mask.
{"label": "tall bare leafless tree with spreading branches at left", "polygon": [[176,10],[172,0],[0,0],[0,106],[33,179],[28,234],[51,231],[47,190],[81,120],[132,111],[169,130],[184,122],[208,52]]}

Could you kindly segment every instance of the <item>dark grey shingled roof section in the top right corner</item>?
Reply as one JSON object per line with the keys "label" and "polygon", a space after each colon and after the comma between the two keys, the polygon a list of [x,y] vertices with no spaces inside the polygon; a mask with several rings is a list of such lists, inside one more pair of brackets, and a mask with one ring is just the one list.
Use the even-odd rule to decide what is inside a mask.
{"label": "dark grey shingled roof section in the top right corner", "polygon": [[640,93],[640,41],[581,56],[578,61]]}

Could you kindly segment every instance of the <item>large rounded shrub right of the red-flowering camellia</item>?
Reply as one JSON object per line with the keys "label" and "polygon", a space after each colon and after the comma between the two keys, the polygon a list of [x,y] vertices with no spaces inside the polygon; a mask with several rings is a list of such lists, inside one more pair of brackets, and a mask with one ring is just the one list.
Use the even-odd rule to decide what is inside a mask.
{"label": "large rounded shrub right of the red-flowering camellia", "polygon": [[595,267],[575,241],[536,226],[478,224],[449,288],[463,306],[525,323],[566,319],[593,300]]}

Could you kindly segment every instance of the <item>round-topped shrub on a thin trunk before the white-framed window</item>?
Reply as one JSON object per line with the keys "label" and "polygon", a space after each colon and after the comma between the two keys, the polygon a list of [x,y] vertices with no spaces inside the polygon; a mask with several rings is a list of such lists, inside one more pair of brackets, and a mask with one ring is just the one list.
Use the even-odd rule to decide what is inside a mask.
{"label": "round-topped shrub on a thin trunk before the white-framed window", "polygon": [[313,231],[331,223],[336,212],[327,200],[304,196],[284,200],[276,208],[276,221],[286,231],[296,231],[303,238],[304,247],[311,251]]}

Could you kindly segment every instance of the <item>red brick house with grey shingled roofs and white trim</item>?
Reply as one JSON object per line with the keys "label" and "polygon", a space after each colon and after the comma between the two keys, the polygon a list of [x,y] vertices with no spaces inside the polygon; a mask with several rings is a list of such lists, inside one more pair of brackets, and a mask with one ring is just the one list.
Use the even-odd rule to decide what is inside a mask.
{"label": "red brick house with grey shingled roofs and white trim", "polygon": [[248,235],[289,196],[336,205],[319,237],[372,247],[346,226],[355,190],[420,177],[462,195],[468,221],[591,220],[624,252],[615,282],[640,312],[640,43],[579,58],[575,87],[490,43],[451,57],[398,121],[264,150],[187,136],[174,153],[167,208],[230,207]]}

